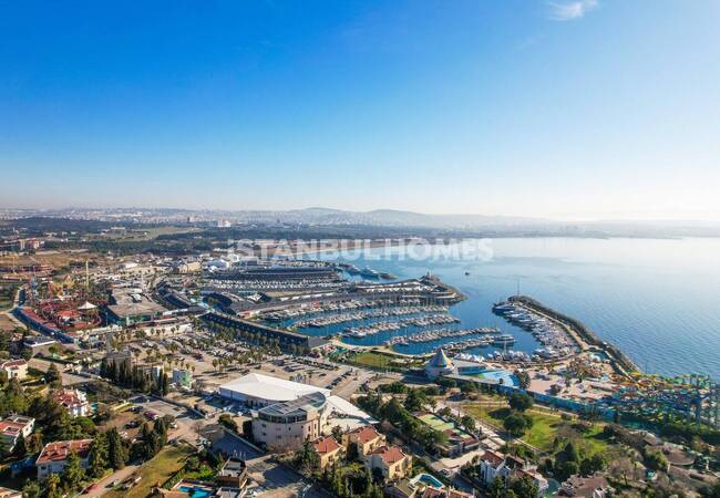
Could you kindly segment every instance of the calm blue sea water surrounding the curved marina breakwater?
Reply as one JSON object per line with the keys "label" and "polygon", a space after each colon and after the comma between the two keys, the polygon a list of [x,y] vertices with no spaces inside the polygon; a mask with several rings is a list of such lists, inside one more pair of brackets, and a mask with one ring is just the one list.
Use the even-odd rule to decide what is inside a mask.
{"label": "calm blue sea water surrounding the curved marina breakwater", "polygon": [[585,322],[644,371],[720,378],[720,239],[518,238],[485,247],[487,260],[414,260],[387,249],[340,259],[398,278],[431,271],[467,295],[451,310],[461,328],[500,326],[517,338],[516,350],[537,344],[491,307],[520,283],[521,293]]}

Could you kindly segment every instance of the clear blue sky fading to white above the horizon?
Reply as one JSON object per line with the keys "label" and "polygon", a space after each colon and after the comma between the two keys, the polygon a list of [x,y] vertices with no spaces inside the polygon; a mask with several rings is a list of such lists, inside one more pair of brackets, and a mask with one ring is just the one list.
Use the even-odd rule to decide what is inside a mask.
{"label": "clear blue sky fading to white above the horizon", "polygon": [[720,219],[717,0],[0,0],[0,206]]}

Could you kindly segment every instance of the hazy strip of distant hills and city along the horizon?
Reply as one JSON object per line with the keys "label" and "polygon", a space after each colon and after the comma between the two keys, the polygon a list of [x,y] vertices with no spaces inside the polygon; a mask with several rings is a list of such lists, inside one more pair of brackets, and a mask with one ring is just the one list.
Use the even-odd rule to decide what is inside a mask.
{"label": "hazy strip of distant hills and city along the horizon", "polygon": [[[3,219],[4,218],[4,219]],[[59,221],[70,218],[74,222]],[[428,215],[394,209],[347,211],[325,207],[290,210],[192,210],[116,208],[56,210],[0,210],[0,229],[16,224],[31,229],[102,229],[122,224],[186,224],[219,220],[232,225],[385,227],[425,232],[453,231],[483,236],[569,236],[569,237],[720,237],[720,222],[697,220],[598,220],[560,221],[543,218],[484,215]],[[14,220],[14,221],[13,221]],[[20,222],[19,220],[22,220]],[[83,225],[80,220],[89,220]],[[188,221],[192,220],[192,221]]]}

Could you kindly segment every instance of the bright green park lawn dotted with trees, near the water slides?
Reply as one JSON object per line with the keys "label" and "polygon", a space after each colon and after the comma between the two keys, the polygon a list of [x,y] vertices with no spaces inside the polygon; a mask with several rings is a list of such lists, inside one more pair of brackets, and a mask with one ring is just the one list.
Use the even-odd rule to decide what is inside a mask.
{"label": "bright green park lawn dotted with trees, near the water slides", "polygon": [[[503,421],[510,414],[510,408],[485,408],[479,405],[466,405],[463,407],[469,414],[488,422],[492,425],[502,427]],[[594,424],[587,432],[579,432],[574,428],[573,421],[564,421],[559,415],[531,409],[526,413],[533,419],[533,426],[521,438],[525,443],[535,446],[543,452],[553,452],[555,439],[573,438],[589,455],[607,449],[607,442],[603,439],[603,427]]]}

